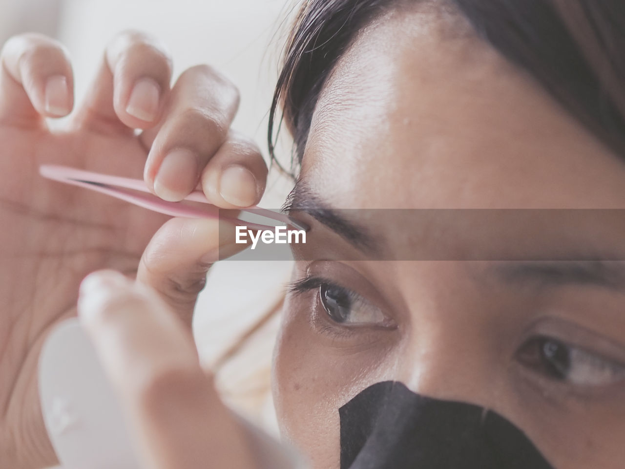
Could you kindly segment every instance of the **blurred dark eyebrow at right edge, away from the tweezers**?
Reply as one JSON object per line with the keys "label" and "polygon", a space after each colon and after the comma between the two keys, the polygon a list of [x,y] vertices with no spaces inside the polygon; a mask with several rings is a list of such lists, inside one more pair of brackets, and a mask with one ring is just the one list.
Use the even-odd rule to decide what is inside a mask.
{"label": "blurred dark eyebrow at right edge, away from the tweezers", "polygon": [[509,282],[540,286],[593,285],[625,291],[624,261],[515,261],[499,265],[496,273]]}

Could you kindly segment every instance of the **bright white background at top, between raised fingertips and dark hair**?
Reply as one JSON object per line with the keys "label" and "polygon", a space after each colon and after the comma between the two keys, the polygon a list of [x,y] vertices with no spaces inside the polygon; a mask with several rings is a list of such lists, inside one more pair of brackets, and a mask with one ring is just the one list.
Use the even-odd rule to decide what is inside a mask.
{"label": "bright white background at top, between raised fingertips and dark hair", "polygon": [[174,76],[198,63],[215,66],[241,90],[234,127],[254,136],[261,148],[266,148],[264,116],[276,81],[282,46],[278,38],[285,29],[281,23],[287,13],[286,3],[61,0],[58,38],[74,59],[78,96],[100,64],[106,43],[124,29],[140,29],[159,38],[174,58]]}

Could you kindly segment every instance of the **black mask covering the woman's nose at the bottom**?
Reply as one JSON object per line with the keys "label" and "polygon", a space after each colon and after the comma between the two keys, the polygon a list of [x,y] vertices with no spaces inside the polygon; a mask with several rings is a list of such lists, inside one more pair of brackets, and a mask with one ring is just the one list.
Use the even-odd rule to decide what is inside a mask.
{"label": "black mask covering the woman's nose at the bottom", "polygon": [[553,469],[502,416],[394,381],[369,386],[339,415],[341,469]]}

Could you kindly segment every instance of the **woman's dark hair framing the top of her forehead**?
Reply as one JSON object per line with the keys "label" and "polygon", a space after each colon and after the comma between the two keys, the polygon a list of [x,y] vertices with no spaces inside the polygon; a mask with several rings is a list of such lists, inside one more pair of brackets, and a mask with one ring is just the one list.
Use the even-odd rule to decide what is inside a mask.
{"label": "woman's dark hair framing the top of her forehead", "polygon": [[[269,114],[269,153],[286,123],[291,174],[306,146],[317,98],[359,29],[386,9],[424,0],[304,0]],[[623,0],[434,0],[455,6],[476,33],[526,69],[609,148],[625,157]],[[432,3],[432,0],[429,0]],[[282,116],[274,131],[278,108]],[[282,166],[280,166],[282,168]]]}

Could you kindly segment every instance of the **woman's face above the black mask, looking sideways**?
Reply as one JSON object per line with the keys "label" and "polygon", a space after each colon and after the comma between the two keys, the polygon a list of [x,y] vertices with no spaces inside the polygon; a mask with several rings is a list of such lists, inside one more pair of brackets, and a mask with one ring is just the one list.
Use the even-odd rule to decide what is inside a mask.
{"label": "woman's face above the black mask, looking sideways", "polygon": [[[364,209],[338,214],[366,224],[377,259],[395,259],[367,260],[336,224],[293,212],[312,226],[301,258],[331,246],[351,259],[297,262],[294,280],[311,279],[289,293],[276,348],[282,432],[318,468],[339,466],[338,408],[386,380],[491,408],[556,467],[625,460],[620,263],[401,261],[441,238],[460,250],[487,238],[511,258],[614,254],[616,216],[604,229],[552,223],[544,236],[493,218],[473,239],[453,218],[356,219],[389,208],[625,208],[625,164],[467,29],[429,11],[378,19],[317,104],[294,209],[304,199],[324,213]],[[547,341],[564,363],[543,356]]]}

